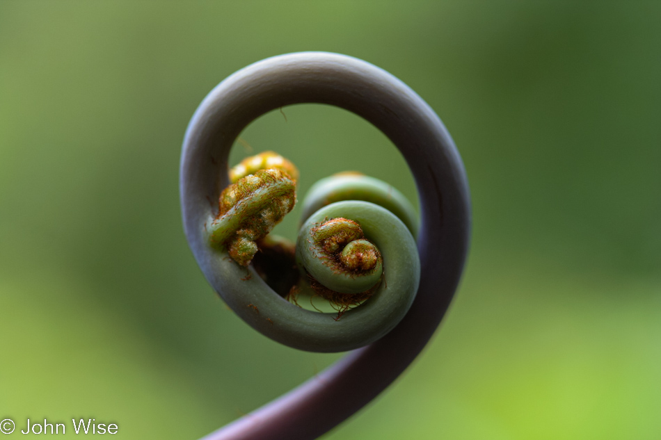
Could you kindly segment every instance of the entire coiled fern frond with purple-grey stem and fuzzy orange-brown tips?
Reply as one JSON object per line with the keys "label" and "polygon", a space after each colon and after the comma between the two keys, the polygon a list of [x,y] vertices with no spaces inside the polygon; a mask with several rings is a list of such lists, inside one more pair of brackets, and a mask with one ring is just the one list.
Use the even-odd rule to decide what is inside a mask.
{"label": "entire coiled fern frond with purple-grey stem and fuzzy orange-brown tips", "polygon": [[[290,183],[282,181],[283,186],[269,189],[239,185],[221,197],[218,209],[209,205],[228,186],[228,155],[241,131],[264,113],[301,103],[344,108],[381,130],[404,156],[420,197],[420,231],[411,209],[398,212],[396,206],[388,206],[399,199],[389,187],[376,199],[361,197],[360,191],[347,196],[344,190],[332,190],[315,202],[310,197],[309,207],[305,204],[299,241],[307,245],[313,241],[310,229],[345,218],[360,225],[383,259],[381,282],[369,289],[372,295],[339,320],[337,313],[308,311],[285,300],[282,292],[288,283],[272,282],[280,270],[273,270],[275,266],[263,270],[257,263],[262,254],[273,251],[276,258],[282,256],[285,264],[278,267],[283,271],[293,264],[289,245],[274,245],[267,251],[273,242],[268,235],[262,236],[293,206],[295,196],[290,191],[297,177],[288,165],[280,173]],[[266,157],[255,163],[269,166],[269,160],[273,161]],[[235,181],[230,183],[239,184],[240,179],[259,173],[251,167],[244,164],[245,170],[232,174]],[[436,331],[459,284],[470,233],[470,195],[459,152],[443,122],[420,96],[363,60],[302,52],[268,58],[232,74],[209,93],[191,119],[184,139],[180,188],[191,250],[209,283],[246,323],[301,350],[363,347],[206,440],[310,440],[324,434],[367,405],[411,364]],[[273,195],[285,197],[272,202]],[[257,203],[244,202],[253,197]],[[256,213],[264,215],[247,220]],[[271,244],[266,245],[267,241]],[[264,249],[257,252],[253,264],[249,261],[255,246],[250,243]],[[333,247],[333,243],[326,245]],[[232,247],[236,260],[229,253]],[[356,247],[358,253],[365,252]],[[335,254],[326,256],[336,258]],[[363,261],[369,266],[371,260],[372,256],[347,259],[353,261],[350,270]],[[317,259],[317,263],[323,266],[323,261]],[[271,279],[269,284],[259,274]],[[316,280],[307,275],[301,278],[311,280],[308,287],[314,292]],[[269,287],[276,284],[278,293]]]}

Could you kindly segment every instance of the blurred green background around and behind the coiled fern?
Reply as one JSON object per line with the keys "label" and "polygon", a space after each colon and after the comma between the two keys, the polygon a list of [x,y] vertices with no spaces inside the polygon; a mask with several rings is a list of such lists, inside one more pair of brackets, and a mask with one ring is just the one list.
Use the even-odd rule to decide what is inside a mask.
{"label": "blurred green background around and behind the coiled fern", "polygon": [[[656,1],[0,1],[0,418],[196,439],[339,357],[234,316],[178,198],[207,92],[256,60],[324,50],[436,110],[474,204],[440,331],[324,438],[658,439],[660,19]],[[367,122],[283,110],[241,134],[234,162],[276,149],[303,192],[360,170],[417,206]]]}

